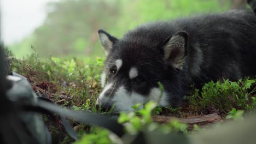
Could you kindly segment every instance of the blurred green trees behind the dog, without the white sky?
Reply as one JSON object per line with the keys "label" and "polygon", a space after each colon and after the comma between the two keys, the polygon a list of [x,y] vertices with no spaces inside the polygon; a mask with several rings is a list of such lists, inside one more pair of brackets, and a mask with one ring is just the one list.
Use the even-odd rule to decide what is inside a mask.
{"label": "blurred green trees behind the dog, without the white sky", "polygon": [[115,37],[142,23],[171,20],[237,7],[234,0],[62,0],[46,5],[44,23],[19,43],[9,45],[18,58],[36,49],[40,57],[104,56],[98,29]]}

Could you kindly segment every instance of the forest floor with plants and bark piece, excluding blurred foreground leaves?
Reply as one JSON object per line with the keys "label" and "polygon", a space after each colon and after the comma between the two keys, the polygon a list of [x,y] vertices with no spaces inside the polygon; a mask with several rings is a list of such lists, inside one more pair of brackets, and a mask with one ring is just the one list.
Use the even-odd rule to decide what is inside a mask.
{"label": "forest floor with plants and bark piece, excluding blurred foreground leaves", "polygon": [[[12,57],[8,53],[10,71],[15,71],[27,77],[34,91],[39,91],[44,97],[54,103],[74,110],[99,112],[96,109],[96,99],[102,88],[100,75],[103,70],[104,59],[77,59],[50,57],[40,59],[37,53],[22,60]],[[181,107],[156,107],[152,113],[152,121],[169,123],[173,118],[187,124],[187,130],[202,128],[208,124],[224,122],[228,119],[241,117],[244,111],[251,111],[256,107],[255,79],[246,78],[236,82],[220,80],[206,83],[202,89],[193,89],[184,99]],[[60,118],[57,123],[44,116],[46,125],[56,143],[73,142],[63,129]],[[97,133],[97,128],[70,121],[79,135]],[[179,124],[178,124],[179,125]],[[176,125],[177,126],[177,125]],[[172,125],[173,127],[173,125]],[[181,124],[179,130],[182,130]],[[91,134],[94,135],[95,134]],[[91,138],[91,141],[101,143],[104,134]],[[108,139],[108,138],[106,138]],[[108,140],[102,140],[103,143]]]}

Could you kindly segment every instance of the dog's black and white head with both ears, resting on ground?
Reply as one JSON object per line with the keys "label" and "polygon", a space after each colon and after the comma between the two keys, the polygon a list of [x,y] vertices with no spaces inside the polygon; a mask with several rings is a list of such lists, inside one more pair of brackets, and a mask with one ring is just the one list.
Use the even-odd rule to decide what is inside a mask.
{"label": "dog's black and white head with both ears, resting on ground", "polygon": [[[97,104],[114,111],[131,111],[131,106],[159,101],[160,106],[176,105],[183,96],[181,74],[187,33],[166,39],[128,33],[117,39],[98,31],[107,59],[101,75],[102,93]],[[161,94],[158,82],[164,86]],[[161,97],[160,97],[161,95]],[[161,99],[160,99],[161,98]]]}

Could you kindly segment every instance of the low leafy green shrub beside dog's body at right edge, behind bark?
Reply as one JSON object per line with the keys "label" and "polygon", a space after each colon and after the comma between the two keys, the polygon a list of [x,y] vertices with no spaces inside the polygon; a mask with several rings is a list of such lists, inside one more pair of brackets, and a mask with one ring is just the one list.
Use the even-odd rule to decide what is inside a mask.
{"label": "low leafy green shrub beside dog's body at right edge, behind bark", "polygon": [[215,109],[220,113],[227,113],[232,107],[238,110],[255,109],[255,80],[243,79],[237,82],[223,80],[223,82],[208,82],[202,89],[194,90],[194,94],[187,97],[193,110]]}

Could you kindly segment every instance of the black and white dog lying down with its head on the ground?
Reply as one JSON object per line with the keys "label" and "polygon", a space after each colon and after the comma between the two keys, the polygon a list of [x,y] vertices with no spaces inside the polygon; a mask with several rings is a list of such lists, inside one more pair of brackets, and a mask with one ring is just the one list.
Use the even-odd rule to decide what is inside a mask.
{"label": "black and white dog lying down with its head on the ground", "polygon": [[117,39],[100,30],[107,55],[97,104],[131,111],[132,105],[158,101],[177,106],[184,89],[220,78],[256,74],[256,16],[231,10],[174,21],[147,23]]}

